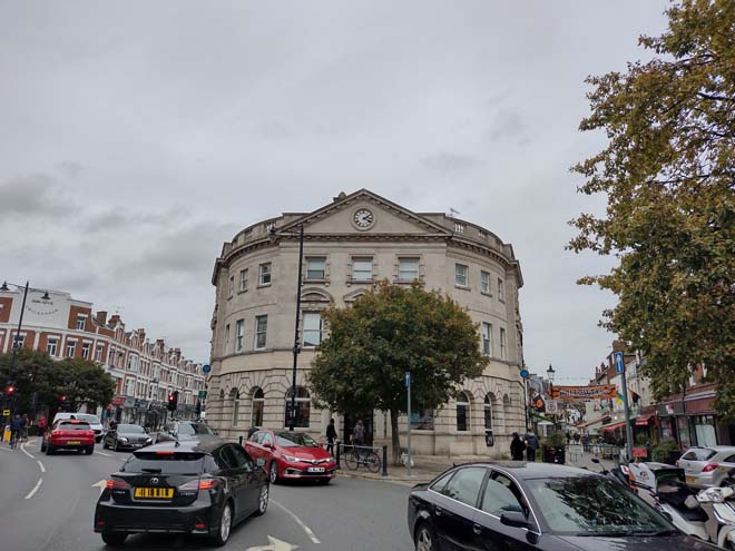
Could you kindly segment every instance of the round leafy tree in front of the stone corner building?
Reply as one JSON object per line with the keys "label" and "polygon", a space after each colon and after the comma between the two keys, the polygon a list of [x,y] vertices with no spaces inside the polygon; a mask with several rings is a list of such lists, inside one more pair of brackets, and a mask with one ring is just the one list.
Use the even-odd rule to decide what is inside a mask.
{"label": "round leafy tree in front of the stone corner building", "polygon": [[477,324],[448,296],[420,284],[382,282],[352,307],[324,313],[330,335],[312,362],[316,403],[340,413],[391,413],[393,461],[400,457],[398,419],[406,411],[404,373],[411,372],[414,411],[438,407],[465,378],[482,374]]}

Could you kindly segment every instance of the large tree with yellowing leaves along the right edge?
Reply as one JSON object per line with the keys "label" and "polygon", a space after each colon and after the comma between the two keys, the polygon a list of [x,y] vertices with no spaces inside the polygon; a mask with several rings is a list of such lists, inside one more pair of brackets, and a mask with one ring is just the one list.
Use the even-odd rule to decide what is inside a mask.
{"label": "large tree with yellowing leaves along the right edge", "polygon": [[640,37],[648,62],[590,77],[591,115],[607,147],[572,168],[579,190],[606,194],[582,214],[569,248],[615,255],[598,284],[619,302],[601,324],[644,352],[657,397],[693,368],[718,383],[715,409],[735,416],[735,2],[684,0],[668,29]]}

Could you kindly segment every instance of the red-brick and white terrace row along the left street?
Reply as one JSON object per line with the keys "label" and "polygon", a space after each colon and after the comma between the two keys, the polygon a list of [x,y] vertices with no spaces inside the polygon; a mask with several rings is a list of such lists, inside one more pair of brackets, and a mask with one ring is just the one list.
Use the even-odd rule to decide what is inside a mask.
{"label": "red-brick and white terrace row along the left street", "polygon": [[[0,352],[12,351],[22,299],[22,291],[0,291]],[[198,391],[205,387],[202,364],[183,357],[179,348],[168,348],[163,340],[150,342],[145,329],[126,331],[119,315],[92,315],[91,303],[68,293],[29,291],[20,342],[56,360],[84,357],[101,364],[117,383],[106,415],[122,422],[159,424],[174,391],[179,392],[179,415],[193,417]]]}

